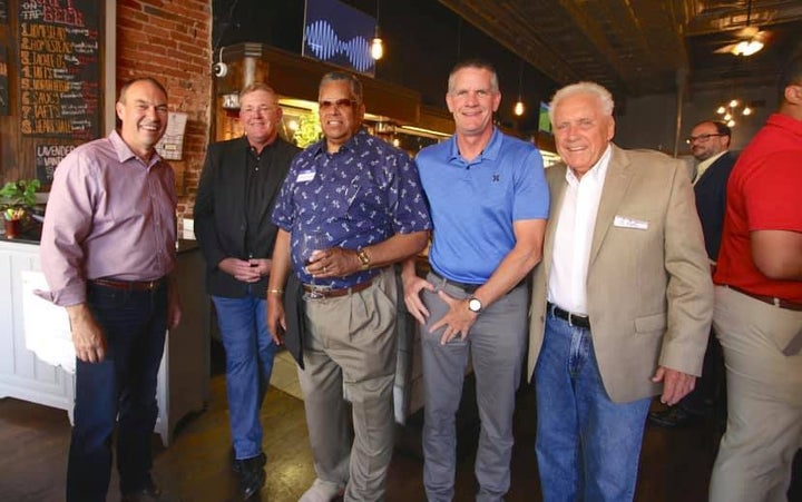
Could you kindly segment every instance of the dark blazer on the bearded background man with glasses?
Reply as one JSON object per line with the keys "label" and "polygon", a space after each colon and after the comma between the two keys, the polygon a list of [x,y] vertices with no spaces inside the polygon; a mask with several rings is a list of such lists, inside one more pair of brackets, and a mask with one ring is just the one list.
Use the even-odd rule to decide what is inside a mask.
{"label": "dark blazer on the bearded background man with glasses", "polygon": [[696,211],[702,220],[707,256],[716,260],[724,228],[726,210],[726,184],[735,165],[735,156],[727,151],[713,163],[694,185]]}

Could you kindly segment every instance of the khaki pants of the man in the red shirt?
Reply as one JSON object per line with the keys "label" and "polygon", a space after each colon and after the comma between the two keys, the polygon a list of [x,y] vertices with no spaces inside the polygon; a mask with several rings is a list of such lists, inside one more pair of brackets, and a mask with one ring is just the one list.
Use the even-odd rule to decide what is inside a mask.
{"label": "khaki pants of the man in the red shirt", "polygon": [[713,326],[724,348],[727,429],[711,480],[713,502],[785,501],[802,446],[802,312],[718,286]]}

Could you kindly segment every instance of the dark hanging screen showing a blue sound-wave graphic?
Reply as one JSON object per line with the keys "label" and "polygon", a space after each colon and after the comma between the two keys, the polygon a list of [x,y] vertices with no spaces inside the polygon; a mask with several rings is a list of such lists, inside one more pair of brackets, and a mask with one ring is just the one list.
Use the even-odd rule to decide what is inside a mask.
{"label": "dark hanging screen showing a blue sound-wave graphic", "polygon": [[306,0],[303,55],[372,77],[375,26],[375,19],[341,1]]}

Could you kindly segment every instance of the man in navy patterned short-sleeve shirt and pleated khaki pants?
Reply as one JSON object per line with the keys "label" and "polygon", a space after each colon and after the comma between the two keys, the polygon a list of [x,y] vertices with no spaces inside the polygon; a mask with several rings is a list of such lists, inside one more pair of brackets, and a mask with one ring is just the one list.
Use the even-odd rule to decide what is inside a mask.
{"label": "man in navy patterned short-sleeve shirt and pleated khaki pants", "polygon": [[382,500],[394,427],[390,265],[422,250],[431,224],[414,164],[362,129],[360,81],[325,75],[319,105],[325,138],[295,158],[273,213],[267,324],[281,343],[297,312],[290,287],[297,278],[304,326],[287,331],[286,342],[303,352],[299,380],[317,474],[301,501],[327,502],[343,489],[346,501]]}

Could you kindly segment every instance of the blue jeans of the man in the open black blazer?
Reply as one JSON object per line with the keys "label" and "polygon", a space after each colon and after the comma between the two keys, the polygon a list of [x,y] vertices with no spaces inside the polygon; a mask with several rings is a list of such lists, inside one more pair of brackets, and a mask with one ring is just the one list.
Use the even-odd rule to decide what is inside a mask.
{"label": "blue jeans of the man in the open black blazer", "polygon": [[267,331],[266,301],[213,296],[226,352],[226,392],[237,460],[262,453],[260,409],[267,392],[276,346]]}

